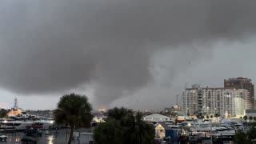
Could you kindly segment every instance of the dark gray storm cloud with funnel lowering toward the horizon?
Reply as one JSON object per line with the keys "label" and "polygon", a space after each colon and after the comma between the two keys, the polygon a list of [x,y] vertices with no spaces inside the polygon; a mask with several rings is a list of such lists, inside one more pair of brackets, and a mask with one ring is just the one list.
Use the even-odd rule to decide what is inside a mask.
{"label": "dark gray storm cloud with funnel lowering toward the horizon", "polygon": [[22,94],[44,94],[94,82],[98,101],[108,104],[152,80],[150,58],[156,51],[181,44],[194,50],[190,42],[241,40],[254,34],[255,4],[2,1],[0,85]]}

